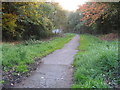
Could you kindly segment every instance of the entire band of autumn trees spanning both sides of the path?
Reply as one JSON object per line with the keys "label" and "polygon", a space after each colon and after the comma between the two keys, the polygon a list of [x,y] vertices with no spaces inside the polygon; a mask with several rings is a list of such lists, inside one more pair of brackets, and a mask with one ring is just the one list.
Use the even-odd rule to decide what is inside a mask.
{"label": "entire band of autumn trees spanning both sides of the path", "polygon": [[107,34],[120,29],[119,2],[88,2],[68,12],[55,2],[3,2],[2,39],[29,40],[65,32]]}

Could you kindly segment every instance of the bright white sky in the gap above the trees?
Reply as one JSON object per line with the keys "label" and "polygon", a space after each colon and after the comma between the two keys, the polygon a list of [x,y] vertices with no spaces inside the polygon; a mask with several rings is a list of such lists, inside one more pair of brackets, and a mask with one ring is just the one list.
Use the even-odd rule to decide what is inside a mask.
{"label": "bright white sky in the gap above the trees", "polygon": [[58,2],[63,9],[68,11],[75,11],[78,5],[83,5],[87,0],[53,0]]}

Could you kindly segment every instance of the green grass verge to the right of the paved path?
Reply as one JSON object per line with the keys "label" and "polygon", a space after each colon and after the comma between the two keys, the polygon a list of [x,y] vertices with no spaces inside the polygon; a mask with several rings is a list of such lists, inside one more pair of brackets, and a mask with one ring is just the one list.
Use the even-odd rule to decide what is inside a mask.
{"label": "green grass verge to the right of the paved path", "polygon": [[118,41],[108,42],[91,35],[80,35],[78,49],[73,88],[118,87]]}

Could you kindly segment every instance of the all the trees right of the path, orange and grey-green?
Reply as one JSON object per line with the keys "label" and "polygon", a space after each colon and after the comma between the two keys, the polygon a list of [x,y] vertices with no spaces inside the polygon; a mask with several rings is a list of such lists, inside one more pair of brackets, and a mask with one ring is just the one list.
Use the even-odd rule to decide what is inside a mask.
{"label": "all the trees right of the path, orange and grey-green", "polygon": [[118,33],[120,2],[88,2],[68,17],[68,30],[77,33]]}

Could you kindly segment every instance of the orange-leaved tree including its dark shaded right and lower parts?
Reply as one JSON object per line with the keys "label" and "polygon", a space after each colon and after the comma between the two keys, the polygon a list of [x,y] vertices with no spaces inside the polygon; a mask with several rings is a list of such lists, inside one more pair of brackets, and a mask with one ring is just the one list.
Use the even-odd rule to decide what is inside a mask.
{"label": "orange-leaved tree including its dark shaded right and lower parts", "polygon": [[86,26],[97,29],[99,33],[109,33],[115,28],[118,30],[119,9],[120,3],[91,2],[79,6],[77,11],[83,15],[80,21],[84,21]]}

